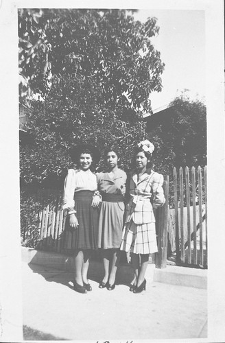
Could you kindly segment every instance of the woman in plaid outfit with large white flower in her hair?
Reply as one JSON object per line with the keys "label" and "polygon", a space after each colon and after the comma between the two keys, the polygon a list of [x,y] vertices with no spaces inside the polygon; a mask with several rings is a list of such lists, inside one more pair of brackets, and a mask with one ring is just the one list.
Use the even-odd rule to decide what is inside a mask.
{"label": "woman in plaid outfit with large white flower in her hair", "polygon": [[121,250],[130,251],[135,279],[130,291],[140,293],[146,287],[145,272],[149,255],[157,252],[153,209],[163,206],[163,175],[152,170],[150,141],[139,143],[134,154],[136,170],[130,174],[129,200],[123,228]]}

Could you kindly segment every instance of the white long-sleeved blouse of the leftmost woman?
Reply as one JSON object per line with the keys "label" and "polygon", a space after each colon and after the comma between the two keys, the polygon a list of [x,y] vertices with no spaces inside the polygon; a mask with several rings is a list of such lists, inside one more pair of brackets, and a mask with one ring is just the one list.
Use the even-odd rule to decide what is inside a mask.
{"label": "white long-sleeved blouse of the leftmost woman", "polygon": [[69,169],[64,180],[64,193],[62,209],[73,209],[74,193],[77,191],[96,191],[97,179],[90,169],[83,171],[80,169]]}

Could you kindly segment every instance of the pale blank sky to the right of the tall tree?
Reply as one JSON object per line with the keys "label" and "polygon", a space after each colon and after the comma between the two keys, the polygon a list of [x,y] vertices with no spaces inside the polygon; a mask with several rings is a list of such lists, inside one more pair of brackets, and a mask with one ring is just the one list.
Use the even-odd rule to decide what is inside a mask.
{"label": "pale blank sky to the right of the tall tree", "polygon": [[165,106],[188,89],[191,99],[205,97],[205,27],[203,10],[139,10],[134,18],[155,16],[160,27],[152,44],[165,63],[163,90],[152,93],[152,110]]}

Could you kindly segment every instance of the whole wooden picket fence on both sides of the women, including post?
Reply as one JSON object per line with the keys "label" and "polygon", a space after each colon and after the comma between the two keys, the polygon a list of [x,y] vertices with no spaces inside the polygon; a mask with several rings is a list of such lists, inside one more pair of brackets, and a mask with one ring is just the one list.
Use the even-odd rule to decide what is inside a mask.
{"label": "whole wooden picket fence on both sides of the women, including post", "polygon": [[[185,174],[185,175],[184,175]],[[158,268],[167,264],[167,243],[170,252],[176,254],[176,264],[207,267],[207,196],[206,167],[196,170],[180,167],[173,171],[174,208],[169,209],[169,178],[165,176],[163,188],[165,205],[156,211],[158,253],[154,261]],[[171,191],[171,189],[170,189]],[[170,194],[171,195],[171,194]],[[63,232],[66,220],[62,210],[62,191],[41,190],[38,202],[43,204],[37,211],[38,249],[66,252],[63,248]],[[48,200],[47,200],[48,199]],[[47,200],[47,201],[46,201]],[[171,206],[170,206],[171,207]],[[28,228],[24,227],[25,237]]]}

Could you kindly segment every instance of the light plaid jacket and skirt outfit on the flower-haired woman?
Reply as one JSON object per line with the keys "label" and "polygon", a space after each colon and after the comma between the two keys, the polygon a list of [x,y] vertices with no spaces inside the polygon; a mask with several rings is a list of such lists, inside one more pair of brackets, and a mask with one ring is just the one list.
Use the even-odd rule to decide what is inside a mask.
{"label": "light plaid jacket and skirt outfit on the flower-haired woman", "polygon": [[138,180],[137,174],[133,173],[129,189],[121,250],[136,254],[157,252],[153,209],[165,203],[163,175],[147,169]]}

